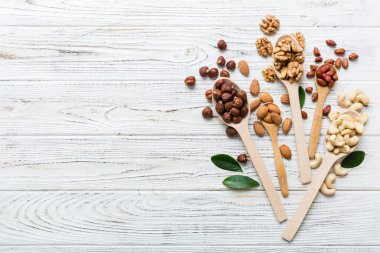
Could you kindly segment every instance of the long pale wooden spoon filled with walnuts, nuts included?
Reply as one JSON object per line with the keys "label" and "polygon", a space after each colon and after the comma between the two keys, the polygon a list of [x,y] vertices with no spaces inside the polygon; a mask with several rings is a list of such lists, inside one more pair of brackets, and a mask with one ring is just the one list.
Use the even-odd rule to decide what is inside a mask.
{"label": "long pale wooden spoon filled with walnuts, nuts included", "polygon": [[288,90],[296,137],[299,176],[301,183],[306,184],[311,181],[311,169],[298,95],[303,62],[303,48],[297,40],[291,35],[281,36],[273,50],[273,66],[277,77]]}

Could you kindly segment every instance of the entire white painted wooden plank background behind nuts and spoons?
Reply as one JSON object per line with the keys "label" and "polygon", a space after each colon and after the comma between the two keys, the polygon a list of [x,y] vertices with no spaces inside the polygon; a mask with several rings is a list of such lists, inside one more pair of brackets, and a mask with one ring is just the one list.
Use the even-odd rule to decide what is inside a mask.
{"label": "entire white painted wooden plank background behind nuts and spoons", "polygon": [[[369,0],[0,0],[0,252],[380,252],[379,11]],[[231,173],[209,157],[243,145],[201,118],[210,81],[183,85],[224,38],[226,58],[251,65],[232,78],[246,89],[257,78],[279,101],[285,89],[262,80],[270,60],[254,45],[268,13],[281,20],[272,41],[305,34],[306,66],[314,46],[333,56],[327,38],[359,53],[334,108],[340,91],[371,97],[365,162],[317,197],[292,243],[262,188],[222,186]],[[308,96],[309,118],[314,106]],[[269,138],[252,136],[278,188]],[[279,139],[295,153],[293,132]],[[291,217],[305,186],[296,158],[285,165]]]}

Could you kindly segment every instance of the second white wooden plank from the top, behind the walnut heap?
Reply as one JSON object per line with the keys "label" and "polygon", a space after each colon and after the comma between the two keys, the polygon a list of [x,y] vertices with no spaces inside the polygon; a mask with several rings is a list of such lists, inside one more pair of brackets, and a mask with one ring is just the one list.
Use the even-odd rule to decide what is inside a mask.
{"label": "second white wooden plank from the top, behind the walnut heap", "polygon": [[[281,33],[297,30],[284,28]],[[380,28],[299,30],[307,39],[306,66],[314,60],[314,46],[320,47],[323,57],[335,58],[333,50],[324,45],[326,38],[334,38],[348,54],[356,51],[360,55],[360,60],[344,71],[346,80],[378,80],[380,66],[373,48],[380,44],[380,38],[373,34],[380,33]],[[215,43],[220,38],[229,43],[223,53],[227,59],[249,62],[249,79],[261,77],[261,69],[271,64],[271,59],[263,59],[256,52],[255,38],[263,36],[256,27],[2,27],[0,35],[0,80],[5,81],[171,80],[181,85],[186,76],[196,75],[200,66],[215,66],[221,54]],[[232,78],[243,79],[238,71]]]}

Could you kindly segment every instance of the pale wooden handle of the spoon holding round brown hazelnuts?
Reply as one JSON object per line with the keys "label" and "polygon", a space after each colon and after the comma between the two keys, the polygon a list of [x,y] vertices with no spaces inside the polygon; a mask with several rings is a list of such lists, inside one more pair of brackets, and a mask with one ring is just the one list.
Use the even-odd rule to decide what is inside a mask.
{"label": "pale wooden handle of the spoon holding round brown hazelnuts", "polygon": [[265,192],[269,198],[269,201],[272,205],[274,214],[276,215],[278,222],[283,222],[288,219],[288,216],[285,212],[284,206],[281,203],[281,199],[277,194],[276,188],[270,179],[269,173],[265,168],[264,162],[261,159],[255,144],[249,134],[248,127],[242,127],[236,129],[243,140],[243,143],[248,151],[248,154],[251,158],[253,166],[255,167],[257,174],[260,177],[260,181],[264,186]]}

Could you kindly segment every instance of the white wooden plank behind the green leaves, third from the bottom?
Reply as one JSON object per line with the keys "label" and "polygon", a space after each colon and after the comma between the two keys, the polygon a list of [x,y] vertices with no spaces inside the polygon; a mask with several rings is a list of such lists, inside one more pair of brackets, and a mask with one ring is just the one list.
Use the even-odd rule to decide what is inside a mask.
{"label": "white wooden plank behind the green leaves, third from the bottom", "polygon": [[[269,137],[254,138],[278,189]],[[239,139],[228,137],[3,137],[0,190],[226,190],[231,172],[216,168],[210,156],[245,152]],[[367,157],[344,178],[340,190],[380,190],[379,136],[364,136]],[[281,137],[295,154],[293,136]],[[324,148],[320,145],[318,152]],[[290,190],[305,190],[298,181],[296,156],[285,161]],[[243,166],[257,179],[251,163]],[[259,188],[262,190],[261,188]]]}

